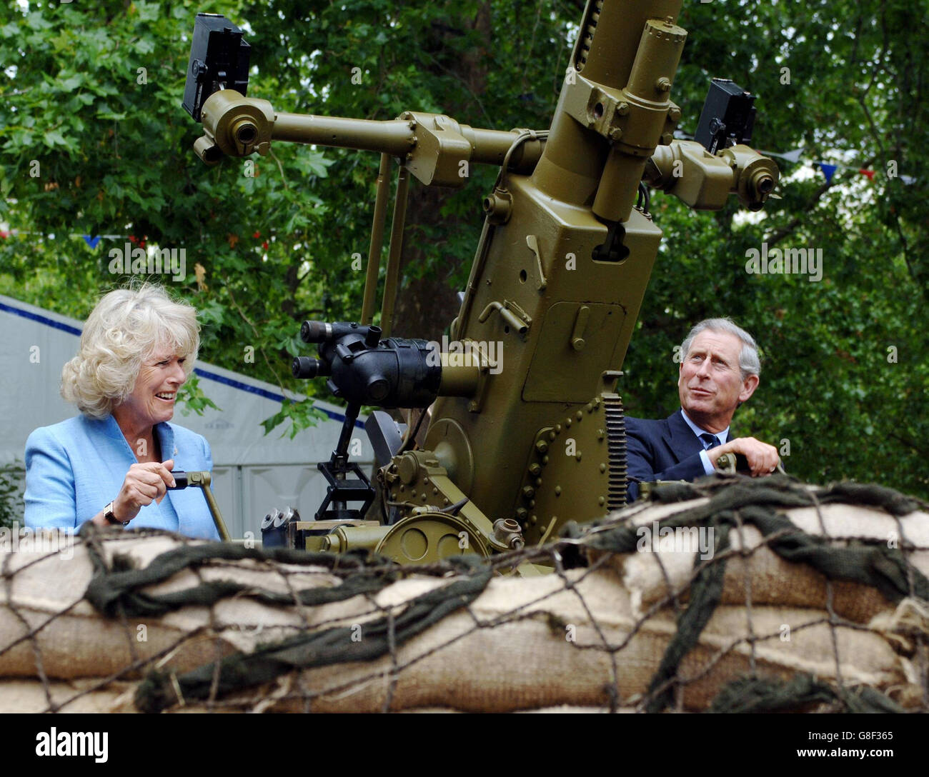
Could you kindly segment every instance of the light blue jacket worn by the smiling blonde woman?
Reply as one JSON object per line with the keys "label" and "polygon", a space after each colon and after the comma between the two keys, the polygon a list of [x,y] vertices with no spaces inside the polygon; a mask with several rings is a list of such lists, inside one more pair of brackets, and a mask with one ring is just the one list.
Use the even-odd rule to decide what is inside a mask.
{"label": "light blue jacket worn by the smiling blonde woman", "polygon": [[[209,443],[173,423],[154,427],[162,460],[185,472],[213,469]],[[137,463],[116,419],[85,415],[43,426],[26,441],[27,526],[76,531],[116,499],[129,467]],[[168,529],[188,537],[218,539],[200,488],[168,491],[161,504],[146,505],[130,528]]]}

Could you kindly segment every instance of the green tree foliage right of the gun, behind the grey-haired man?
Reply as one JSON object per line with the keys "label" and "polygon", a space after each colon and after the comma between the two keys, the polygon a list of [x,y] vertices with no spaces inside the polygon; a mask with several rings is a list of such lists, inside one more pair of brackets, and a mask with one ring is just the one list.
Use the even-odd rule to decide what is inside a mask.
{"label": "green tree foliage right of the gun, behind the grey-haired man", "polygon": [[[688,4],[682,14],[690,37],[675,96],[684,115],[699,113],[709,76],[725,75],[759,96],[755,147],[803,148],[805,162],[778,161],[783,200],[760,219],[735,203],[710,215],[661,199],[666,242],[624,365],[630,411],[676,408],[674,345],[700,318],[728,315],[765,356],[734,432],[788,440],[787,469],[809,480],[929,495],[926,3],[723,10]],[[810,160],[873,179],[840,169],[829,186],[809,175]],[[746,251],[763,243],[821,250],[822,280],[747,274]]]}

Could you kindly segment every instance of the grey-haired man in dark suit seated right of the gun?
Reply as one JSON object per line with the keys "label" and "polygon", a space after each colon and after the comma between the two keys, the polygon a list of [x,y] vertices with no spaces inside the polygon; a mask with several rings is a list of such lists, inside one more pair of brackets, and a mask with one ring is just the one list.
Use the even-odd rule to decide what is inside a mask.
{"label": "grey-haired man in dark suit seated right of the gun", "polygon": [[754,437],[729,439],[736,408],[758,387],[761,362],[752,335],[728,318],[707,318],[681,345],[677,393],[681,409],[661,421],[626,418],[628,499],[638,484],[654,480],[694,480],[713,473],[724,453],[741,454],[752,476],[777,469],[778,449]]}

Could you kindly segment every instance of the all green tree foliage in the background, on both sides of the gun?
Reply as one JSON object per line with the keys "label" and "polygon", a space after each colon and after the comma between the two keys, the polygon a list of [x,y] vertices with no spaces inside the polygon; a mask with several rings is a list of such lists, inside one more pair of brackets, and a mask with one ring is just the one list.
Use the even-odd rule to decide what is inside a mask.
{"label": "all green tree foliage in the background, on both sides of the gun", "polygon": [[[688,42],[673,91],[682,129],[696,126],[709,78],[725,76],[759,96],[756,148],[805,150],[799,164],[779,161],[783,199],[762,214],[735,201],[695,213],[653,197],[665,240],[623,365],[631,413],[670,413],[674,345],[701,317],[729,315],[765,356],[735,432],[789,440],[785,463],[809,480],[929,496],[926,5],[684,5]],[[251,177],[242,160],[204,167],[191,151],[199,127],[180,109],[197,11],[246,29],[249,95],[276,110],[368,119],[426,110],[543,129],[582,3],[102,0],[0,10],[0,220],[20,230],[0,240],[0,292],[85,317],[98,291],[124,280],[109,272],[108,253],[124,240],[91,249],[70,234],[185,248],[187,276],[168,285],[200,310],[203,357],[322,392],[290,379],[287,363],[302,318],[359,314],[363,269],[352,257],[367,255],[378,160],[279,143]],[[827,186],[811,160],[873,179],[840,169]],[[472,168],[456,191],[412,184],[398,334],[435,337],[453,317],[494,175]],[[746,252],[763,243],[821,249],[822,280],[746,273]],[[266,426],[310,420],[307,403],[287,403]]]}

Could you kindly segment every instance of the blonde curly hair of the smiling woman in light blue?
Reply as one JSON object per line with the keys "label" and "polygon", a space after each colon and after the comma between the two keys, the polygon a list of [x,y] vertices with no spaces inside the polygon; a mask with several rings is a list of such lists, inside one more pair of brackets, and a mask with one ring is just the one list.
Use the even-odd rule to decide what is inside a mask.
{"label": "blonde curly hair of the smiling woman in light blue", "polygon": [[104,419],[132,394],[142,362],[165,346],[185,359],[190,376],[200,349],[197,311],[154,283],[110,291],[87,317],[77,356],[61,370],[61,396]]}

